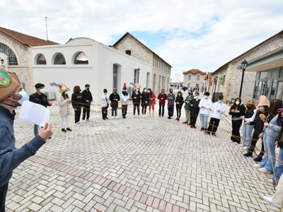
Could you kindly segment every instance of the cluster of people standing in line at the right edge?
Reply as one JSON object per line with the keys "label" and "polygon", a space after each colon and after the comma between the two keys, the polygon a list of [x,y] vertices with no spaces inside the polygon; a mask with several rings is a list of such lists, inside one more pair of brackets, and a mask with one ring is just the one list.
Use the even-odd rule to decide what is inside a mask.
{"label": "cluster of people standing in line at the right edge", "polygon": [[[272,174],[272,179],[267,179],[271,184],[277,184],[277,192],[273,196],[263,198],[270,204],[281,208],[283,206],[283,107],[282,100],[267,100],[265,95],[258,98],[258,105],[253,100],[248,100],[243,105],[241,98],[236,98],[231,105],[229,114],[232,118],[231,141],[243,146],[247,152],[243,155],[253,157],[256,143],[261,140],[261,149],[255,160],[254,166],[260,172]],[[242,127],[242,136],[240,129]],[[278,158],[276,147],[279,148]]]}

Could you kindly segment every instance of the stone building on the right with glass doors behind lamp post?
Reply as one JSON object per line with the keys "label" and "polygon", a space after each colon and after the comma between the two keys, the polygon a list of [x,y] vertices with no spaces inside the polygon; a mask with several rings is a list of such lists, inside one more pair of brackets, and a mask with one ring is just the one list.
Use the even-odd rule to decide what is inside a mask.
{"label": "stone building on the right with glass doors behind lamp post", "polygon": [[[242,80],[242,61],[248,61],[243,76],[241,98],[257,100],[258,96],[283,98],[283,31],[227,62],[212,74],[216,93],[223,93],[224,100],[237,98]],[[214,92],[211,88],[210,92]]]}

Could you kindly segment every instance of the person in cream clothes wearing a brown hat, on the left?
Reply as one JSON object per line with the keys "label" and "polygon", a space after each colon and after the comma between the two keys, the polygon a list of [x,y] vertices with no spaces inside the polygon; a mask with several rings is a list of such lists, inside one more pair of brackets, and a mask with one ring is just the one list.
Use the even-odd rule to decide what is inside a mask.
{"label": "person in cream clothes wearing a brown hat, on the left", "polygon": [[59,114],[61,117],[61,130],[64,132],[71,131],[69,127],[69,117],[71,114],[71,99],[69,98],[70,88],[63,83],[59,84],[59,93],[61,96],[58,100]]}

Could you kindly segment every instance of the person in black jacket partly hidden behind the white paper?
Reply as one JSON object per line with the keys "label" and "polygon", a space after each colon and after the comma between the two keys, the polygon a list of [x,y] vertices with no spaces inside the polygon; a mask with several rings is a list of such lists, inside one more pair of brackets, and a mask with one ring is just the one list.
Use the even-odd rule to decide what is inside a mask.
{"label": "person in black jacket partly hidden behind the white paper", "polygon": [[[35,90],[36,92],[30,95],[30,102],[34,102],[36,104],[40,104],[44,107],[51,106],[52,102],[47,100],[47,95],[45,94],[45,85],[42,83],[36,83],[35,84]],[[38,125],[34,125],[33,132],[35,136],[38,134]]]}

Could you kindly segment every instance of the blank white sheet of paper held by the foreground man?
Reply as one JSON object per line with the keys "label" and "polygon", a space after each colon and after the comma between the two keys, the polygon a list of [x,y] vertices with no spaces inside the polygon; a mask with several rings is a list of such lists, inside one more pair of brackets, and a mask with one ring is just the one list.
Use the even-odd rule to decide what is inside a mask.
{"label": "blank white sheet of paper held by the foreground man", "polygon": [[45,123],[50,121],[50,110],[40,104],[24,101],[18,118],[24,122],[45,126]]}

